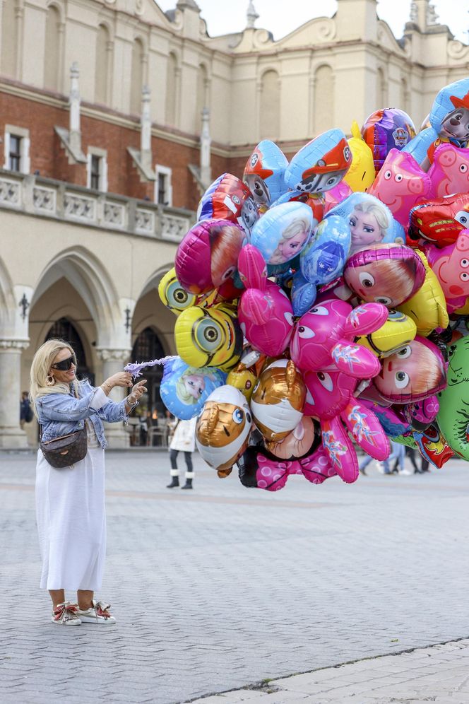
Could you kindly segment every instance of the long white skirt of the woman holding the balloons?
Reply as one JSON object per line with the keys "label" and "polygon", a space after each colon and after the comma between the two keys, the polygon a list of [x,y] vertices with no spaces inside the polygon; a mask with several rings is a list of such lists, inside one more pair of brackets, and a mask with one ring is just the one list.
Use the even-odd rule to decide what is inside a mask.
{"label": "long white skirt of the woman holding the balloons", "polygon": [[54,469],[37,452],[36,517],[41,589],[100,589],[106,553],[105,451],[90,448]]}

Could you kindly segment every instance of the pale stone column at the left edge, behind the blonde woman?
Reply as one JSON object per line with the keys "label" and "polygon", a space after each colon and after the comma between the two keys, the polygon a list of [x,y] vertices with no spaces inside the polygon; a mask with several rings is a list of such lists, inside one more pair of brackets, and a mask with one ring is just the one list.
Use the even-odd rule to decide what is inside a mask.
{"label": "pale stone column at the left edge, behind the blonde woman", "polygon": [[0,340],[0,447],[28,447],[20,428],[21,354],[25,340]]}

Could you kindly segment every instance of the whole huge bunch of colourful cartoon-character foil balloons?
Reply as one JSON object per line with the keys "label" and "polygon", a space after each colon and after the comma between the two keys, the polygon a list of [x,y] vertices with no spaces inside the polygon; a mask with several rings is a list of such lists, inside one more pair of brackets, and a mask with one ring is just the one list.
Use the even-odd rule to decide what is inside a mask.
{"label": "whole huge bunch of colourful cartoon-character foil balloons", "polygon": [[264,140],[203,194],[160,282],[179,355],[161,395],[198,416],[218,476],[350,483],[355,447],[383,460],[389,438],[469,459],[469,338],[451,341],[469,316],[469,79],[427,122],[379,110],[290,162]]}

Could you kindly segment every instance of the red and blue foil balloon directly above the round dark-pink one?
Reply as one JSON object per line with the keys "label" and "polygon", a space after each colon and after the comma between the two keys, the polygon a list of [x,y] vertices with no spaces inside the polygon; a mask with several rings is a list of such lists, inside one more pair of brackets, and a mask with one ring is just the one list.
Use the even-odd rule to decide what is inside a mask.
{"label": "red and blue foil balloon directly above the round dark-pink one", "polygon": [[237,176],[222,174],[215,179],[198,204],[197,220],[227,220],[240,225],[246,232],[259,218],[251,191]]}

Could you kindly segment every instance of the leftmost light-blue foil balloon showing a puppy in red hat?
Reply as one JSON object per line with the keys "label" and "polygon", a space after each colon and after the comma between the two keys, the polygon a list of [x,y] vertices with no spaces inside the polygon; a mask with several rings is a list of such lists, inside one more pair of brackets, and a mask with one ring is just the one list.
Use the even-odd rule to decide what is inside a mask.
{"label": "leftmost light-blue foil balloon showing a puppy in red hat", "polygon": [[285,191],[284,174],[288,160],[283,151],[269,139],[263,139],[246,162],[243,181],[256,205],[265,213]]}

